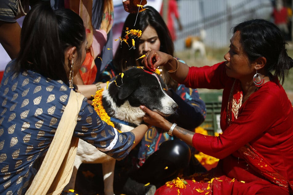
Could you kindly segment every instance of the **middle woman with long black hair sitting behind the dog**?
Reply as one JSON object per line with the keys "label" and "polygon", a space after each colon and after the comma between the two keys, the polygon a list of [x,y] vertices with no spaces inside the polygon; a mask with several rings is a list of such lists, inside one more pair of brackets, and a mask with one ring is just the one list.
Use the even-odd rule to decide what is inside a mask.
{"label": "middle woman with long black hair sitting behind the dog", "polygon": [[[128,44],[122,42],[113,60],[101,72],[100,82],[111,80],[132,66],[142,66],[141,59],[136,59],[147,54],[151,49],[160,50],[170,55],[174,54],[169,30],[160,13],[151,6],[144,6],[144,8],[146,10],[139,13],[138,16],[137,13],[128,15],[121,34],[121,38],[124,38],[126,27],[129,30],[141,30],[140,38],[135,39],[136,49],[130,49],[128,46],[128,44],[132,44],[131,39],[128,40]],[[179,105],[176,113],[168,117],[168,121],[176,122],[186,129],[194,131],[205,119],[205,103],[199,97],[196,89],[179,85],[170,77],[165,67],[162,67],[161,74],[168,86],[167,94]],[[176,149],[181,152],[176,153]],[[206,171],[194,157],[194,152],[193,150],[190,155],[189,147],[184,142],[153,126],[145,134],[139,146],[125,160],[116,162],[118,173],[115,175],[120,175],[121,178],[119,178],[119,182],[115,183],[126,181],[124,193],[140,194],[144,192],[144,184],[148,182],[159,187],[179,173]],[[165,167],[168,164],[166,170]],[[124,172],[122,173],[121,170]],[[127,178],[129,176],[130,178]]]}

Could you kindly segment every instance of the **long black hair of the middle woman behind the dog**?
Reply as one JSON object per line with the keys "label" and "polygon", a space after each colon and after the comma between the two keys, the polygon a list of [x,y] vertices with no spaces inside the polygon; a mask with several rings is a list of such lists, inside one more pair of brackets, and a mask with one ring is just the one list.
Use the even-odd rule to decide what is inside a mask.
{"label": "long black hair of the middle woman behind the dog", "polygon": [[[172,42],[168,27],[166,26],[160,13],[151,6],[144,6],[144,8],[146,8],[146,10],[140,12],[138,15],[137,13],[128,14],[124,22],[121,38],[124,38],[127,27],[129,30],[135,29],[144,32],[147,26],[151,26],[156,30],[158,38],[161,42],[160,51],[173,56],[174,44]],[[132,46],[131,38],[128,39],[128,45],[122,42],[121,46],[117,48],[113,58],[113,65],[119,73],[132,66],[136,66],[137,64],[136,59],[138,58],[139,38],[135,39],[136,49],[130,49]],[[169,88],[176,90],[178,83],[174,81],[165,70],[163,70],[163,72],[163,79],[165,83]]]}

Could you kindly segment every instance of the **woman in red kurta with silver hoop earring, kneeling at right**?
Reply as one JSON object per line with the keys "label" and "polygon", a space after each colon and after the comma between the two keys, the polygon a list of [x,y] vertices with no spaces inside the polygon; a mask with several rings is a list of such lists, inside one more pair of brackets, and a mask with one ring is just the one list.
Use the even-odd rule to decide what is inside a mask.
{"label": "woman in red kurta with silver hoop earring, kneeling at right", "polygon": [[233,33],[226,62],[214,66],[188,67],[155,50],[144,59],[145,66],[165,66],[188,87],[223,89],[223,133],[218,137],[188,132],[141,107],[147,113],[145,122],[221,159],[208,173],[174,179],[156,194],[292,193],[293,108],[278,77],[283,83],[293,60],[282,33],[271,22],[242,22]]}

